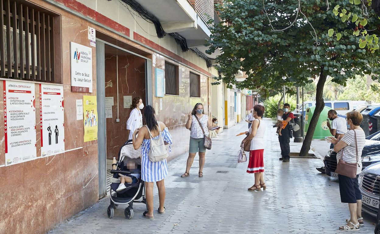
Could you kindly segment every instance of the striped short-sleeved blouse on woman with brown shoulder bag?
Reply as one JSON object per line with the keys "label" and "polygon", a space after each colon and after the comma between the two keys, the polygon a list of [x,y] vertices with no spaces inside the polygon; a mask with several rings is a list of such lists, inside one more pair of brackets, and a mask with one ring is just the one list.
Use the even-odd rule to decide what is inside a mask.
{"label": "striped short-sleeved blouse on woman with brown shoulder bag", "polygon": [[[336,155],[336,160],[339,163],[339,159],[343,159],[345,162],[356,163],[356,146],[355,146],[355,132],[356,132],[356,140],[358,144],[358,169],[356,170],[356,174],[361,173],[361,153],[363,151],[364,145],[366,144],[366,135],[363,130],[349,130],[343,137],[342,141],[347,143],[348,145],[341,149]],[[343,155],[343,157],[342,157]]]}

